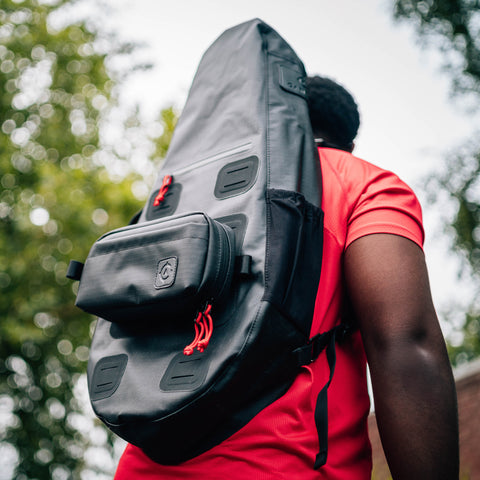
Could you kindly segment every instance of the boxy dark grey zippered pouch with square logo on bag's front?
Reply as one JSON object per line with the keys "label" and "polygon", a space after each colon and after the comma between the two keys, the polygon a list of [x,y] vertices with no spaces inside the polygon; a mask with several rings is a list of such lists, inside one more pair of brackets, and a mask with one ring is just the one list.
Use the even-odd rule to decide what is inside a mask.
{"label": "boxy dark grey zippered pouch with square logo on bag's front", "polygon": [[76,305],[113,322],[191,320],[230,288],[233,231],[204,213],[113,230],[97,240]]}

